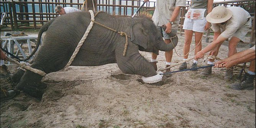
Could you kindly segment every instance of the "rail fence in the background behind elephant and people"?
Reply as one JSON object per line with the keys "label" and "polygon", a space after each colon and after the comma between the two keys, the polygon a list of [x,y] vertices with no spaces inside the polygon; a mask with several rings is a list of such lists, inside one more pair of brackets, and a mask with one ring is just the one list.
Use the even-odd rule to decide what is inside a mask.
{"label": "rail fence in the background behind elephant and people", "polygon": [[[22,2],[21,2],[22,1]],[[7,30],[18,30],[18,29],[39,29],[45,22],[58,16],[55,13],[55,6],[72,6],[78,9],[82,8],[83,3],[79,3],[79,0],[32,0],[27,2],[27,0],[2,0],[1,5],[1,14],[6,13],[6,18],[3,24],[1,31]],[[54,1],[54,2],[53,2]],[[69,3],[67,3],[69,1]],[[90,2],[91,0],[85,0]],[[120,16],[131,16],[135,11],[141,6],[143,0],[97,0],[95,5],[97,6],[97,11],[105,11],[108,14],[120,15]],[[84,11],[88,10],[90,3],[85,3]],[[149,11],[153,14],[156,2],[150,1],[147,2],[140,10]],[[187,1],[187,7],[181,9],[181,22],[179,25],[179,34],[183,35],[184,30],[182,29],[185,13],[187,12],[190,1]],[[255,24],[254,14],[255,14],[255,0],[226,0],[223,2],[214,2],[214,6],[223,5],[223,6],[241,6],[247,10],[252,18],[253,25]],[[90,8],[91,9],[91,8]],[[139,14],[139,13],[138,13]],[[138,15],[137,14],[137,15]],[[254,25],[255,26],[255,25]],[[209,38],[212,38],[210,35],[212,31],[208,30],[204,37],[208,42]],[[250,29],[249,34],[251,34],[251,41],[245,43],[254,43],[255,44],[255,30],[254,27]]]}

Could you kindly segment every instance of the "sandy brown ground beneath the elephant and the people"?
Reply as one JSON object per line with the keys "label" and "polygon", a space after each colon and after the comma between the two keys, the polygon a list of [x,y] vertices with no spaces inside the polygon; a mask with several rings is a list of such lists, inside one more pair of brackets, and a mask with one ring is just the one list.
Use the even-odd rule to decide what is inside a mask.
{"label": "sandy brown ground beneath the elephant and the people", "polygon": [[[203,38],[203,48],[207,46]],[[218,57],[226,58],[225,42]],[[182,55],[179,36],[177,54]],[[239,43],[238,51],[249,46]],[[194,43],[191,45],[191,50]],[[140,52],[150,60],[151,54]],[[182,61],[173,55],[172,64]],[[189,54],[189,58],[194,52]],[[165,66],[164,52],[158,68]],[[192,61],[189,62],[189,67]],[[205,66],[203,59],[199,66]],[[15,72],[15,65],[8,65]],[[179,66],[171,70],[178,70]],[[186,71],[163,77],[159,86],[141,83],[141,76],[123,74],[117,64],[94,67],[70,66],[47,74],[48,87],[41,101],[20,92],[1,102],[1,128],[255,128],[255,89],[237,91],[240,68],[227,82],[225,69],[213,68],[209,77]],[[1,87],[15,89],[8,78]]]}

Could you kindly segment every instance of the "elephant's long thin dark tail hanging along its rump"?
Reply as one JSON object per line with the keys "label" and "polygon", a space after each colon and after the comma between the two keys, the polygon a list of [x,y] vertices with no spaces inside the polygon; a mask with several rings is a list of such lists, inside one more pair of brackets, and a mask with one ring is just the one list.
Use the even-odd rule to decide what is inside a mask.
{"label": "elephant's long thin dark tail hanging along its rump", "polygon": [[55,18],[52,19],[51,21],[48,21],[46,24],[44,24],[44,25],[40,28],[40,30],[39,30],[39,32],[38,32],[36,47],[34,48],[34,50],[32,51],[32,53],[31,53],[26,59],[23,59],[23,60],[21,60],[21,61],[27,61],[28,59],[30,59],[30,58],[34,55],[34,53],[36,53],[36,51],[38,50],[38,47],[39,47],[39,45],[40,45],[41,37],[42,37],[42,35],[43,35],[43,32],[45,32],[45,31],[48,30],[49,26],[53,23],[54,20],[55,20]]}

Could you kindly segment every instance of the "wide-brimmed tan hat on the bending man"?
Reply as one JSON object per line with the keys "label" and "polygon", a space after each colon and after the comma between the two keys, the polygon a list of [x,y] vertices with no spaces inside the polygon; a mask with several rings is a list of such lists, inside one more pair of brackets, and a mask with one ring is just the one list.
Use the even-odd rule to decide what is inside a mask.
{"label": "wide-brimmed tan hat on the bending man", "polygon": [[232,11],[225,6],[217,6],[206,16],[206,20],[210,23],[217,24],[227,21],[232,15]]}

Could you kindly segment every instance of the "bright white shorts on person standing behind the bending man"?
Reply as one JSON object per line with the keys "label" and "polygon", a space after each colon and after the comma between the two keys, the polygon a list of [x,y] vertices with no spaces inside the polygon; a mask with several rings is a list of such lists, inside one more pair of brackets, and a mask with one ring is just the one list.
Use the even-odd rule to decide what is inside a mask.
{"label": "bright white shorts on person standing behind the bending man", "polygon": [[183,29],[193,30],[194,32],[205,32],[204,27],[206,23],[207,23],[207,20],[205,17],[203,19],[185,18]]}

